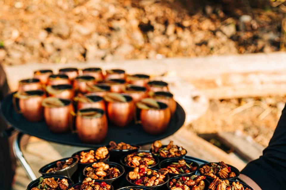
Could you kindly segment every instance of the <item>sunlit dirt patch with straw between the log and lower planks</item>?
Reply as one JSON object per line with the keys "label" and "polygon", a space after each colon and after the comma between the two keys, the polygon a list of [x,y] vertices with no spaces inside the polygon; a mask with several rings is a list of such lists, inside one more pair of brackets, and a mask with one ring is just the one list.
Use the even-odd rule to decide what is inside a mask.
{"label": "sunlit dirt patch with straw between the log and lower planks", "polygon": [[285,97],[211,100],[208,111],[189,129],[197,134],[239,130],[266,147],[285,101]]}

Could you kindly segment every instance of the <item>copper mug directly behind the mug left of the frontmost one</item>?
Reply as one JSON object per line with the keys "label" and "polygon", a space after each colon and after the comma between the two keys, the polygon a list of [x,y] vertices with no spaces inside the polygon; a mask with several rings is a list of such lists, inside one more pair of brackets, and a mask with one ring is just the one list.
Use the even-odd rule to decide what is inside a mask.
{"label": "copper mug directly behind the mug left of the frontmost one", "polygon": [[74,97],[74,89],[70,84],[50,85],[46,87],[46,92],[49,96],[62,99],[72,99]]}

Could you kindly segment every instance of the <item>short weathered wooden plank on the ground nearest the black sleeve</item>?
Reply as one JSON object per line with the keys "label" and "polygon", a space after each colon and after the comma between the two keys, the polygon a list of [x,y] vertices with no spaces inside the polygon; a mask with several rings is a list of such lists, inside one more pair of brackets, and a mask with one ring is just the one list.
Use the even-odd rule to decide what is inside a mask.
{"label": "short weathered wooden plank on the ground nearest the black sleeve", "polygon": [[231,132],[219,132],[218,138],[222,143],[233,148],[247,162],[258,159],[262,155],[264,147],[255,143],[252,138],[248,139],[243,134],[235,134]]}

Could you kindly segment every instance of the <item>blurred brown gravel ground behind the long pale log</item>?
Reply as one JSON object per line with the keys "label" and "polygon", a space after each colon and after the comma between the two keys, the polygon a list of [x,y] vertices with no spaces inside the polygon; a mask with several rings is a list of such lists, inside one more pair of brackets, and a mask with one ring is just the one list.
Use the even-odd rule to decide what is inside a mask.
{"label": "blurred brown gravel ground behind the long pale log", "polygon": [[268,0],[4,0],[0,61],[271,52],[279,50],[283,17]]}

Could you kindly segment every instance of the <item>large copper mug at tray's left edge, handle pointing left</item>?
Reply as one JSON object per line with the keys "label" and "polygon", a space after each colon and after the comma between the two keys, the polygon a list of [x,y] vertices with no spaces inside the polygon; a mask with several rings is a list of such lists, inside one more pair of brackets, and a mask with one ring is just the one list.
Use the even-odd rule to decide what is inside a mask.
{"label": "large copper mug at tray's left edge, handle pointing left", "polygon": [[[17,113],[22,113],[24,118],[31,122],[38,122],[43,119],[42,101],[46,97],[42,90],[25,91],[25,95],[17,92],[13,96],[13,105]],[[19,107],[16,105],[16,98],[19,99]]]}

